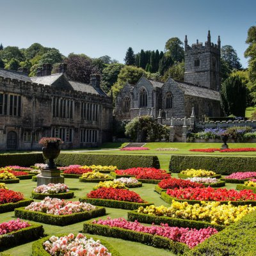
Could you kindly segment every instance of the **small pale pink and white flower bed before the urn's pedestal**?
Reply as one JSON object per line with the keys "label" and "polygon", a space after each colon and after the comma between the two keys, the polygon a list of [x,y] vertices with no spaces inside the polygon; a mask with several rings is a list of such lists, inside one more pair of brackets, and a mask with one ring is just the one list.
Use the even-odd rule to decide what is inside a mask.
{"label": "small pale pink and white flower bed before the urn's pedestal", "polygon": [[51,198],[69,199],[74,197],[74,192],[68,190],[68,186],[65,184],[53,184],[41,185],[34,189],[32,192],[32,198],[44,199],[46,196]]}

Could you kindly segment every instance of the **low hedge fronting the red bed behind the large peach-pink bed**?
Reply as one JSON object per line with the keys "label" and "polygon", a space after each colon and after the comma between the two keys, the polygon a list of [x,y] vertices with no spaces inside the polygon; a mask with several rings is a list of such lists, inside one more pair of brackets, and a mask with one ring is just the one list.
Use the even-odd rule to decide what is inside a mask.
{"label": "low hedge fronting the red bed behind the large peach-pink bed", "polygon": [[110,200],[110,199],[100,199],[100,198],[88,198],[86,196],[79,198],[80,202],[86,202],[93,205],[101,205],[110,208],[119,208],[126,210],[134,210],[138,209],[140,206],[146,207],[148,205],[152,205],[152,203],[135,203],[135,202],[125,202],[118,200]]}

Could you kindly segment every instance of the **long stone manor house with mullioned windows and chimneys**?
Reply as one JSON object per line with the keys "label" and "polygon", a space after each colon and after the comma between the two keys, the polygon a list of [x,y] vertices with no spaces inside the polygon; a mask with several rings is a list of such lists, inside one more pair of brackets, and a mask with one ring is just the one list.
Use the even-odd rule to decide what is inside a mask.
{"label": "long stone manor house with mullioned windows and chimneys", "polygon": [[51,69],[45,64],[28,77],[0,68],[0,150],[42,148],[43,136],[61,138],[64,148],[111,141],[113,100],[100,89],[100,76],[84,84],[68,79],[65,64],[58,74]]}

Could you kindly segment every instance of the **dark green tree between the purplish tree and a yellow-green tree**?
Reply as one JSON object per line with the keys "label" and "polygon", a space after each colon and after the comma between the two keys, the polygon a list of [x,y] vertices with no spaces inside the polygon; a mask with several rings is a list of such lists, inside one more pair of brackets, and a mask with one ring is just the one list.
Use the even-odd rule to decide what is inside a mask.
{"label": "dark green tree between the purplish tree and a yellow-green tree", "polygon": [[111,86],[116,83],[120,70],[124,67],[124,64],[113,63],[102,70],[100,87],[104,92],[108,93],[111,90]]}

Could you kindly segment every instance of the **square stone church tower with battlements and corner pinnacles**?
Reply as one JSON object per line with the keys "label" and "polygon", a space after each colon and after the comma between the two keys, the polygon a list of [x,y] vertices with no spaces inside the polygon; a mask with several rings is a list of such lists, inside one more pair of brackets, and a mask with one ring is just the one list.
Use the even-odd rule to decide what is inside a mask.
{"label": "square stone church tower with battlements and corner pinnacles", "polygon": [[218,45],[211,42],[208,31],[205,45],[198,43],[188,45],[185,37],[185,74],[184,81],[198,84],[213,90],[220,90],[220,36]]}

